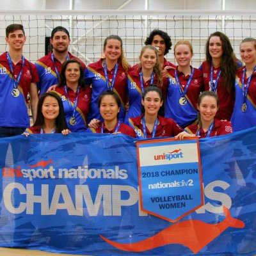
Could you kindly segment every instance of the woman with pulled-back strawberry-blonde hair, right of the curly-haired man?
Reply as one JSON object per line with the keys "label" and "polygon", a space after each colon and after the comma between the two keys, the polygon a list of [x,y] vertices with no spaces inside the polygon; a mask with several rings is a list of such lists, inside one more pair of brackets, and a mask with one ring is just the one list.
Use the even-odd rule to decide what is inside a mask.
{"label": "woman with pulled-back strawberry-blonde hair, right of the curly-haired man", "polygon": [[196,102],[204,90],[202,71],[193,68],[193,47],[190,42],[181,40],[174,46],[177,68],[169,70],[166,97],[166,116],[173,118],[181,127],[186,127],[196,119]]}

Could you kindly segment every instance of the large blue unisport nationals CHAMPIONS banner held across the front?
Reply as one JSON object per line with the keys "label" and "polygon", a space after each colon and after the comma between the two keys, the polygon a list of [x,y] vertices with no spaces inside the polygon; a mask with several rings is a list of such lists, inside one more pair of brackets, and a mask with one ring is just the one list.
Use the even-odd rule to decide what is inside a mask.
{"label": "large blue unisport nationals CHAMPIONS banner held across the front", "polygon": [[0,246],[100,256],[255,255],[255,132],[200,140],[204,205],[175,223],[141,211],[129,136],[1,139]]}

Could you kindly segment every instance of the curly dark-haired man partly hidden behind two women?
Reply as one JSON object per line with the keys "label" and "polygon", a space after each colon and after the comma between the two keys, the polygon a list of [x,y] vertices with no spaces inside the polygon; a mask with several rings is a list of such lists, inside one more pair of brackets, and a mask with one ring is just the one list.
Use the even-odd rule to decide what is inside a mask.
{"label": "curly dark-haired man partly hidden behind two women", "polygon": [[166,58],[164,58],[164,55],[168,54],[169,50],[172,47],[171,38],[166,32],[161,31],[159,29],[154,29],[153,31],[151,31],[151,33],[149,34],[145,41],[145,45],[148,44],[157,47],[159,63],[162,69],[164,69],[164,67],[166,66],[176,68],[176,66],[173,65],[173,63],[170,63],[166,60]]}

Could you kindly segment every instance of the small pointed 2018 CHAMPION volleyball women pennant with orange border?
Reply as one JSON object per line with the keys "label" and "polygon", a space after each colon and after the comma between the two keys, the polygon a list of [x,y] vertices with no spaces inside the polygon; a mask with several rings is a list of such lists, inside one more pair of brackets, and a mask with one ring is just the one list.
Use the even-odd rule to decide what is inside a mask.
{"label": "small pointed 2018 CHAMPION volleyball women pennant with orange border", "polygon": [[141,209],[176,222],[203,205],[198,137],[137,141]]}

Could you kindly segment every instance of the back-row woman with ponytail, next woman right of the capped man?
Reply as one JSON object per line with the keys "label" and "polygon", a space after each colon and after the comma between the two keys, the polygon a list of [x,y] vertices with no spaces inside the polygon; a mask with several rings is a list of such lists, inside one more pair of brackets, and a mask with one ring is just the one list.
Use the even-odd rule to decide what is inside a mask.
{"label": "back-row woman with ponytail, next woman right of the capped man", "polygon": [[84,71],[86,84],[92,86],[92,100],[88,122],[93,118],[102,120],[99,113],[98,99],[102,92],[116,92],[121,100],[120,120],[125,117],[125,85],[129,63],[125,60],[122,38],[118,35],[108,36],[103,45],[102,58],[88,65]]}

